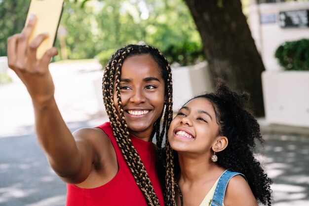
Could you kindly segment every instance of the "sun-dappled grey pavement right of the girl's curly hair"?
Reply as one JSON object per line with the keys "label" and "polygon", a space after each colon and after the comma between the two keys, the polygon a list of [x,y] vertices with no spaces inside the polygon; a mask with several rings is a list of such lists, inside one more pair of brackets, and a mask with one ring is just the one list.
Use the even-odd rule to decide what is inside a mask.
{"label": "sun-dappled grey pavement right of the girl's curly hair", "polygon": [[264,134],[262,157],[273,180],[274,206],[309,205],[309,136]]}

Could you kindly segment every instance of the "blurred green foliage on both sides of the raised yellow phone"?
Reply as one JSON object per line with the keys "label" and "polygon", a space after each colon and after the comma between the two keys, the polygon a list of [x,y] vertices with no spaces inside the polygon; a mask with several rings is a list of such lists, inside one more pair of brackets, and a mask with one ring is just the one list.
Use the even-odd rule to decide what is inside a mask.
{"label": "blurred green foliage on both sides of the raised yellow phone", "polygon": [[[6,39],[20,33],[30,0],[0,0],[0,56]],[[3,17],[3,18],[2,18]],[[98,57],[105,66],[126,44],[144,42],[159,48],[170,61],[190,65],[203,58],[202,43],[183,0],[66,0],[55,46],[68,59]]]}

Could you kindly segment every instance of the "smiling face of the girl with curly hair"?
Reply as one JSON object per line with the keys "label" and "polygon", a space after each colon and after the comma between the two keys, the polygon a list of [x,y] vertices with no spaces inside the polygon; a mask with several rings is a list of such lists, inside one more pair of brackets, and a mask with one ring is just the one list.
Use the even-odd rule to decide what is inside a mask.
{"label": "smiling face of the girl with curly hair", "polygon": [[178,111],[169,127],[168,140],[178,152],[212,153],[210,148],[218,131],[212,103],[205,98],[196,98]]}

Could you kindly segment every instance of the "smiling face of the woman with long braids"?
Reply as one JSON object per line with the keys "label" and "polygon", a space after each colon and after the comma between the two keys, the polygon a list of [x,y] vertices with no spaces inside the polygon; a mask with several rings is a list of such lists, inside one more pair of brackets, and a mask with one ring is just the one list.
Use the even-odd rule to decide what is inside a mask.
{"label": "smiling face of the woman with long braids", "polygon": [[[131,135],[147,140],[164,106],[164,80],[150,55],[124,60],[120,76],[123,113]],[[118,109],[116,92],[114,102]]]}

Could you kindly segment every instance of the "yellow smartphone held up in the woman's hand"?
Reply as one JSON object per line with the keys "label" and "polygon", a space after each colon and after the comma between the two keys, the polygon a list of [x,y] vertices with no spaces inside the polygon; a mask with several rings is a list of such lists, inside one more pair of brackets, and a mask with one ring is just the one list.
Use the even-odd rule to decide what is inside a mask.
{"label": "yellow smartphone held up in the woman's hand", "polygon": [[38,59],[40,59],[48,49],[53,47],[55,43],[63,4],[64,0],[31,0],[26,24],[31,14],[37,17],[37,23],[29,38],[29,42],[39,34],[47,32],[49,35],[48,38],[40,44],[37,50]]}

